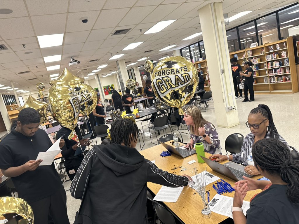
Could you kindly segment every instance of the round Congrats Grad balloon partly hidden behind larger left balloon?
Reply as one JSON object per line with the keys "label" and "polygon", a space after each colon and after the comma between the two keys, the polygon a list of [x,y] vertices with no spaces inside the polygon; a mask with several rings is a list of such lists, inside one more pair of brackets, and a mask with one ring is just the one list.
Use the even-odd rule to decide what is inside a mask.
{"label": "round Congrats Grad balloon partly hidden behind larger left balloon", "polygon": [[97,106],[97,92],[85,83],[80,83],[72,87],[81,103],[80,112],[88,116]]}

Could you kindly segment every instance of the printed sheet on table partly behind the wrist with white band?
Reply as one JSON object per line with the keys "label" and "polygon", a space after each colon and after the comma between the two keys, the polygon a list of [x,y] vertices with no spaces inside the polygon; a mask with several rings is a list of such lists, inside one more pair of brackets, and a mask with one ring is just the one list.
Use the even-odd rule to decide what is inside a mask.
{"label": "printed sheet on table partly behind the wrist with white band", "polygon": [[[233,214],[231,213],[233,201],[233,197],[216,194],[215,197],[213,197],[213,199],[209,203],[210,210],[215,213],[233,218]],[[246,211],[249,209],[249,201],[243,201],[242,209],[244,215],[246,215]]]}

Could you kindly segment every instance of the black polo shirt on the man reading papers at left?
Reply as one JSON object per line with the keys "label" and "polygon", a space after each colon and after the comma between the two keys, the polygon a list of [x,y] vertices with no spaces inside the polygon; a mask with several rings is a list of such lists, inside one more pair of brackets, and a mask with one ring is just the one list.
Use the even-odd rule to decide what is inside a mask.
{"label": "black polo shirt on the man reading papers at left", "polygon": [[[35,160],[39,152],[47,151],[51,145],[48,134],[42,129],[38,129],[31,137],[13,129],[0,142],[0,168],[5,170]],[[11,179],[19,197],[28,203],[41,200],[63,188],[54,163],[39,166],[35,171],[26,171]]]}

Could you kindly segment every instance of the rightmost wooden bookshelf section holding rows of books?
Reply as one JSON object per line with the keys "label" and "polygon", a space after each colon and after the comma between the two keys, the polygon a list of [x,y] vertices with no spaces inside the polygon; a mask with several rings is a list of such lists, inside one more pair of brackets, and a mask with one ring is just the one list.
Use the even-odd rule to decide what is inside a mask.
{"label": "rightmost wooden bookshelf section holding rows of books", "polygon": [[265,44],[271,93],[296,93],[298,80],[292,37]]}

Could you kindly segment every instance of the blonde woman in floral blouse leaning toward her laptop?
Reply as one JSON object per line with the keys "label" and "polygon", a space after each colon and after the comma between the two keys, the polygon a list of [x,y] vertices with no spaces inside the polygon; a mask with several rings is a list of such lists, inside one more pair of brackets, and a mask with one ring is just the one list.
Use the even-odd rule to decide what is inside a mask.
{"label": "blonde woman in floral blouse leaning toward her laptop", "polygon": [[210,154],[221,154],[221,146],[218,133],[214,125],[202,117],[202,113],[196,106],[187,107],[184,111],[184,119],[190,130],[191,140],[187,148],[200,140],[204,145],[205,152]]}

